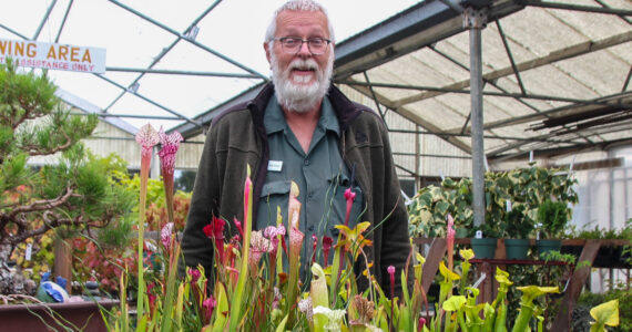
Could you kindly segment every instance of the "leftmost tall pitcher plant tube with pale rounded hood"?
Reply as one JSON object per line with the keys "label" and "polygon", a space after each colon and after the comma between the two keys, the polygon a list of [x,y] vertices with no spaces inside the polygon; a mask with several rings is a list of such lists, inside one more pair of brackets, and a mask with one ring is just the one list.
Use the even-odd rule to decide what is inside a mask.
{"label": "leftmost tall pitcher plant tube with pale rounded hood", "polygon": [[147,179],[150,177],[150,165],[152,163],[152,149],[160,141],[160,136],[151,124],[146,124],[136,133],[136,142],[141,145],[141,193],[139,205],[139,299],[136,312],[139,319],[144,315],[145,303],[145,281],[143,277],[143,246],[145,231],[145,207],[147,200]]}

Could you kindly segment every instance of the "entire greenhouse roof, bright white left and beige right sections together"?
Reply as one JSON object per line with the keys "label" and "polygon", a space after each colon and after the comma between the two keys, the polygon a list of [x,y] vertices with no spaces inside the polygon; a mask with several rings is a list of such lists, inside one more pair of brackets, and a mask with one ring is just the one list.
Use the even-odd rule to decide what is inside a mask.
{"label": "entire greenhouse roof, bright white left and beige right sections together", "polygon": [[[191,137],[267,81],[262,41],[281,3],[11,1],[0,12],[0,40],[105,48],[104,74],[50,75],[98,112]],[[447,172],[471,157],[471,32],[463,28],[470,6],[487,18],[481,61],[489,160],[632,143],[632,1],[322,3],[338,40],[334,81],[380,112],[405,173],[437,174],[436,164],[419,167],[428,165],[424,158],[444,160]]]}

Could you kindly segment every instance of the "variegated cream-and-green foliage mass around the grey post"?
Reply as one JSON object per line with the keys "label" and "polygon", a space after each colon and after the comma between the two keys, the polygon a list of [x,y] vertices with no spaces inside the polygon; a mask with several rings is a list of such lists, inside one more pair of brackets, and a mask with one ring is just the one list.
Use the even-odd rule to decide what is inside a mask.
{"label": "variegated cream-and-green foliage mass around the grey post", "polygon": [[[440,186],[419,189],[408,205],[409,234],[411,237],[445,237],[446,218],[450,214],[455,227],[468,229],[469,236],[481,229],[485,237],[520,238],[533,231],[538,208],[547,199],[577,204],[575,184],[577,179],[564,169],[534,164],[528,168],[488,172],[485,175],[485,224],[475,228],[471,179],[446,178]],[[568,209],[569,219],[570,214]]]}

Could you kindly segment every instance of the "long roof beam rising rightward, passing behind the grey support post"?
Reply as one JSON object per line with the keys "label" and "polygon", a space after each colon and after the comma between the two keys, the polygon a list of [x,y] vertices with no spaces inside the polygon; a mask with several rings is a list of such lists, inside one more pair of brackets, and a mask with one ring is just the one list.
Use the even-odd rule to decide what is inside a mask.
{"label": "long roof beam rising rightward, passing behind the grey support post", "polygon": [[[608,49],[608,48],[619,45],[619,44],[622,44],[622,43],[625,43],[629,41],[632,41],[632,31],[625,31],[623,33],[615,34],[615,35],[612,35],[609,38],[604,38],[604,39],[599,40],[599,41],[594,41],[594,42],[587,41],[587,42],[582,42],[582,43],[571,45],[569,48],[557,50],[557,51],[549,53],[546,56],[518,63],[518,64],[516,64],[516,70],[518,70],[520,72],[532,70],[532,69],[536,69],[536,68],[539,68],[542,65],[547,65],[547,64],[550,64],[553,62],[558,62],[561,60],[567,60],[570,58],[588,54],[590,52],[594,52],[594,51],[599,51],[599,50],[603,50],[603,49]],[[504,77],[504,76],[513,74],[513,71],[514,71],[513,68],[510,65],[510,66],[506,66],[506,68],[492,71],[492,72],[489,72],[489,73],[485,74],[482,76],[482,79],[486,81],[495,81],[495,80],[498,80],[500,77]],[[465,89],[469,85],[470,85],[469,80],[463,80],[460,82],[456,82],[452,84],[441,86],[440,89],[442,89],[445,91],[450,91],[450,92],[451,91],[462,91],[462,89]],[[395,101],[394,105],[401,106],[401,105],[419,102],[419,101],[422,101],[426,98],[435,97],[435,96],[440,95],[442,93],[444,92],[441,92],[440,90],[424,92],[424,93],[420,93],[417,95],[412,95],[412,96],[408,96],[408,97]]]}

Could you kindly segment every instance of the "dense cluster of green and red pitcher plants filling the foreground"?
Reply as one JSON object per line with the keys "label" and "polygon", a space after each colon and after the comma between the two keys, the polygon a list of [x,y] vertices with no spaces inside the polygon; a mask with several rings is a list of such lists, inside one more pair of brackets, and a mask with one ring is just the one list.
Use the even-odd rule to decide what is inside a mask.
{"label": "dense cluster of green and red pitcher plants filling the foreground", "polygon": [[[150,135],[151,129],[144,129]],[[179,139],[175,139],[180,142]],[[153,142],[153,141],[152,141]],[[175,148],[177,149],[177,148]],[[208,246],[215,252],[214,268],[206,278],[202,267],[188,268],[177,276],[181,259],[179,240],[170,228],[163,227],[160,252],[164,264],[151,264],[146,259],[139,263],[136,317],[130,315],[126,299],[125,274],[121,278],[121,305],[115,312],[104,313],[110,331],[404,331],[404,332],[482,332],[543,330],[543,311],[538,298],[559,292],[557,287],[518,287],[522,292],[520,312],[514,322],[507,321],[507,293],[513,286],[508,272],[497,268],[499,284],[491,303],[480,303],[479,289],[470,283],[471,249],[458,251],[460,260],[448,255],[439,263],[440,292],[431,312],[421,279],[426,259],[410,252],[407,267],[388,267],[389,289],[381,289],[371,274],[365,249],[371,246],[369,222],[349,227],[337,225],[337,241],[313,238],[323,256],[310,261],[309,282],[299,276],[302,246],[305,235],[298,229],[300,204],[296,184],[292,184],[288,218],[283,220],[277,208],[277,222],[265,229],[253,229],[253,183],[249,166],[244,181],[243,220],[234,219],[234,236],[225,231],[226,220],[212,217],[203,229]],[[169,179],[167,179],[169,180]],[[141,186],[141,190],[143,190]],[[347,203],[355,198],[345,195]],[[141,195],[142,199],[142,195]],[[350,204],[347,208],[350,208]],[[348,214],[347,214],[348,216]],[[141,219],[142,220],[142,219]],[[452,218],[446,230],[448,252],[453,252]],[[139,230],[141,230],[139,225]],[[144,246],[139,231],[139,252]],[[333,264],[328,255],[333,252]],[[149,251],[150,249],[147,249]],[[323,259],[323,257],[325,259]],[[364,262],[363,271],[354,263]],[[357,266],[357,264],[356,264]],[[145,271],[146,273],[143,273]],[[156,272],[157,271],[157,272]],[[361,276],[356,276],[361,273]],[[409,273],[411,278],[409,278]],[[146,277],[145,279],[142,279]],[[359,289],[357,279],[367,278],[368,287]],[[401,295],[395,294],[395,280],[400,278]],[[606,302],[591,311],[595,319],[593,330],[604,331],[605,325],[618,323],[616,302]]]}

